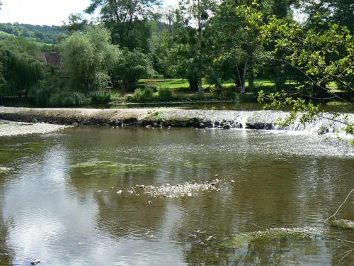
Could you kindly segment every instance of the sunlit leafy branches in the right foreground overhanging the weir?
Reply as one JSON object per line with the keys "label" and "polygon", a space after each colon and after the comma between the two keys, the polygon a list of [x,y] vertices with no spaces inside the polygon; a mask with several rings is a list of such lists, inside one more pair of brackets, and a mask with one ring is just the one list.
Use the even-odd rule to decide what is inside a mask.
{"label": "sunlit leafy branches in the right foreground overhanging the weir", "polygon": [[[281,61],[306,77],[295,91],[282,90],[268,95],[263,91],[259,93],[258,101],[268,100],[270,106],[277,108],[283,108],[285,105],[293,106],[290,116],[285,121],[280,121],[280,124],[288,125],[295,121],[298,115],[302,123],[316,117],[323,118],[320,106],[312,102],[308,103],[306,98],[304,99],[307,95],[311,99],[318,99],[318,91],[346,101],[326,86],[329,82],[336,82],[339,87],[353,95],[354,40],[348,28],[326,19],[321,19],[319,23],[323,27],[312,30],[303,28],[299,23],[287,23],[275,16],[271,17],[268,23],[264,23],[260,19],[263,14],[252,6],[242,6],[241,9],[246,19],[259,27],[259,39],[263,43],[273,43],[275,50],[286,50],[287,55]],[[274,58],[274,60],[278,59]],[[354,106],[350,101],[346,102]],[[353,124],[348,123],[346,119],[338,119],[338,114],[333,114],[329,119],[343,123],[347,133],[354,134]]]}

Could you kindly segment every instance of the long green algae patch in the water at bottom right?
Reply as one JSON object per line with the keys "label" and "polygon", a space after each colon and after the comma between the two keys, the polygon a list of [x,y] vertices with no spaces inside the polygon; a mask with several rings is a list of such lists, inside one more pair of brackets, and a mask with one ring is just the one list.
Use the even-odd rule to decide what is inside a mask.
{"label": "long green algae patch in the water at bottom right", "polygon": [[274,239],[302,239],[312,238],[314,235],[321,235],[317,228],[270,228],[265,231],[250,233],[238,233],[234,237],[219,244],[219,248],[242,248],[253,241],[274,240]]}

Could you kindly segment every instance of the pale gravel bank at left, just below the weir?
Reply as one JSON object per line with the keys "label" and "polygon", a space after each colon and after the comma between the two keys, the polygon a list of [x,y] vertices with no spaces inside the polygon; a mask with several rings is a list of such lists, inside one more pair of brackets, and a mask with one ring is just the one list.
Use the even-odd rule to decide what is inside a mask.
{"label": "pale gravel bank at left, just below the weir", "polygon": [[0,119],[0,137],[13,135],[44,134],[59,131],[69,126],[49,123],[23,123]]}

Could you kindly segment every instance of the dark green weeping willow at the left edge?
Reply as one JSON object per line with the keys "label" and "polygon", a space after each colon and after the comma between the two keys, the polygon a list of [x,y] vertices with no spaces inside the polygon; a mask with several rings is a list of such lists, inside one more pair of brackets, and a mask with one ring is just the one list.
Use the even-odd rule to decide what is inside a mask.
{"label": "dark green weeping willow at the left edge", "polygon": [[0,49],[0,96],[28,92],[42,79],[42,64],[38,60]]}

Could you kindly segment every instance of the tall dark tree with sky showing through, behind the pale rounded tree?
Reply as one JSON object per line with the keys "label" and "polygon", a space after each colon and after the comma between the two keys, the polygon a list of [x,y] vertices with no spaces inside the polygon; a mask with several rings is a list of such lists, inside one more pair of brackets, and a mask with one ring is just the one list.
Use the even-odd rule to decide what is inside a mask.
{"label": "tall dark tree with sky showing through, behind the pale rounded tree", "polygon": [[100,9],[101,21],[112,33],[114,44],[145,50],[151,35],[149,20],[158,4],[159,0],[91,0],[86,13]]}

